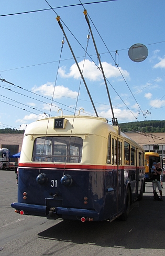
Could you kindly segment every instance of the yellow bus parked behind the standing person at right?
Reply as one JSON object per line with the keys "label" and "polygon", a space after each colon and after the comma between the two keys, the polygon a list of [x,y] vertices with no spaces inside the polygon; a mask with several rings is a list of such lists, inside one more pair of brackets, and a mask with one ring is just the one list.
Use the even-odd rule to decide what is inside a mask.
{"label": "yellow bus parked behind the standing person at right", "polygon": [[150,172],[151,172],[153,162],[161,163],[159,154],[156,152],[145,152],[145,177],[146,177],[146,179],[151,178]]}

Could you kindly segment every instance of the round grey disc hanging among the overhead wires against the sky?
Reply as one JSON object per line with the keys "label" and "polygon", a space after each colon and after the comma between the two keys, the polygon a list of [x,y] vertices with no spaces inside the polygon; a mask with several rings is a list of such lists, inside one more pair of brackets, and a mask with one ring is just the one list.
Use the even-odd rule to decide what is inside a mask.
{"label": "round grey disc hanging among the overhead wires against the sky", "polygon": [[132,45],[128,50],[128,56],[133,62],[143,62],[148,56],[148,49],[142,44]]}

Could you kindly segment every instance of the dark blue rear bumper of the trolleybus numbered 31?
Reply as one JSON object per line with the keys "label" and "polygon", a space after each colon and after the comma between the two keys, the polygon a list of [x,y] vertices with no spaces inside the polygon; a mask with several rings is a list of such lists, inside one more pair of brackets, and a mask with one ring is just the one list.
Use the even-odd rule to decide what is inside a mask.
{"label": "dark blue rear bumper of the trolleybus numbered 31", "polygon": [[39,206],[37,204],[12,203],[11,206],[18,210],[19,213],[20,211],[24,211],[23,214],[26,215],[43,216],[47,217],[47,219],[53,220],[56,220],[58,218],[81,220],[82,217],[85,217],[93,218],[94,221],[98,221],[100,217],[99,212],[87,209],[54,207],[50,208],[47,213],[46,206]]}

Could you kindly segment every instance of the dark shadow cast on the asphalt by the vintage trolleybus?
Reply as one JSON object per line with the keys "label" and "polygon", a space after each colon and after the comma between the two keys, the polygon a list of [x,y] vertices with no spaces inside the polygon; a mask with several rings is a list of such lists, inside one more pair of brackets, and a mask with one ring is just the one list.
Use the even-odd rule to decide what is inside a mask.
{"label": "dark shadow cast on the asphalt by the vintage trolleybus", "polygon": [[[149,185],[150,186],[150,185]],[[41,239],[126,249],[165,249],[165,198],[154,201],[152,192],[131,207],[127,221],[80,222],[63,220],[38,233]]]}

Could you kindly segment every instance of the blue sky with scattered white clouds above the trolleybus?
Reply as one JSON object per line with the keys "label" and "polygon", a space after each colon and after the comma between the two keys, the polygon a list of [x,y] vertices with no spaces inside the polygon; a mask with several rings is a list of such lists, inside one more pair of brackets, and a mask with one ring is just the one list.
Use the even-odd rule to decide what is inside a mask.
{"label": "blue sky with scattered white clouds above the trolleybus", "polygon": [[[164,11],[164,0],[1,0],[0,129],[81,108],[112,124],[110,103],[118,124],[164,120]],[[141,62],[129,58],[135,44]]]}

